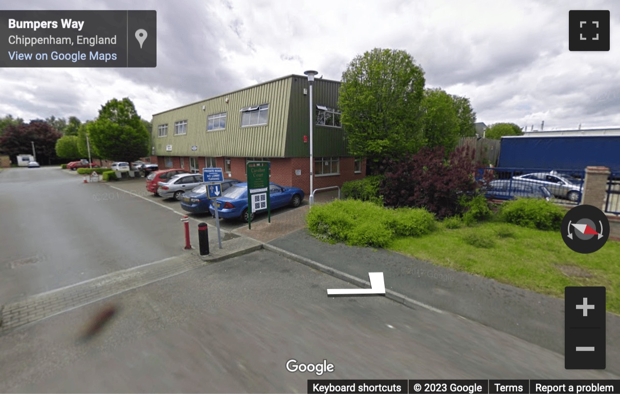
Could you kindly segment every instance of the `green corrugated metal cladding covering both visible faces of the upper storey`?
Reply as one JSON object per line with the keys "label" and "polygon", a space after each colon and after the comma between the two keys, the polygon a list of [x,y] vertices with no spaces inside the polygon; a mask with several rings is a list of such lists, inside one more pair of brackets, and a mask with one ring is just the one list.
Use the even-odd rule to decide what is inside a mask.
{"label": "green corrugated metal cladding covering both visible faces of the upper storey", "polygon": [[[335,107],[336,81],[316,80],[314,107]],[[153,146],[156,156],[231,156],[231,157],[308,157],[309,94],[305,76],[288,76],[264,84],[223,94],[177,109],[153,115]],[[228,103],[226,103],[228,99]],[[252,105],[269,104],[267,125],[241,127],[240,110]],[[205,110],[202,109],[203,105]],[[206,131],[208,115],[226,112],[224,130]],[[174,135],[174,123],[187,120],[187,134]],[[168,125],[167,137],[157,137],[157,126]],[[314,127],[314,156],[343,156],[341,128]],[[166,146],[172,145],[172,151]],[[192,151],[192,146],[197,146]]]}

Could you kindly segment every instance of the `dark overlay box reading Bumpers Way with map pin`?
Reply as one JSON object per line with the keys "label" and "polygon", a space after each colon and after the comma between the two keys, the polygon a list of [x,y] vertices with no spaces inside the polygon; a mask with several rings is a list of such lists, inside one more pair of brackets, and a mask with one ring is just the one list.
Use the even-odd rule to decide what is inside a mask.
{"label": "dark overlay box reading Bumpers Way with map pin", "polygon": [[0,67],[156,66],[156,11],[0,11]]}

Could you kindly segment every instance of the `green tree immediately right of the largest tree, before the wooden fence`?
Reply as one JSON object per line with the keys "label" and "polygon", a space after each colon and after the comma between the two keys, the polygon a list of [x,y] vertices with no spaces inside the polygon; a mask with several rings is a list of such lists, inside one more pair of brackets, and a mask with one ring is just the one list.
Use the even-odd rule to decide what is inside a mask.
{"label": "green tree immediately right of the largest tree, before the wooden fence", "polygon": [[452,151],[458,143],[460,122],[454,99],[441,89],[425,89],[422,100],[425,145]]}

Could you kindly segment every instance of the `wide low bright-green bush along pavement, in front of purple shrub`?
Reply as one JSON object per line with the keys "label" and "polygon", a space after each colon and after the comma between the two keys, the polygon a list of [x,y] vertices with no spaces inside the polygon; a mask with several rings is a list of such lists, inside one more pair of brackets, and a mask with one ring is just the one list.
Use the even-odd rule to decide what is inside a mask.
{"label": "wide low bright-green bush along pavement, in front of purple shrub", "polygon": [[435,216],[421,208],[391,209],[361,200],[314,205],[306,223],[320,240],[375,248],[385,248],[395,236],[418,236],[436,228]]}

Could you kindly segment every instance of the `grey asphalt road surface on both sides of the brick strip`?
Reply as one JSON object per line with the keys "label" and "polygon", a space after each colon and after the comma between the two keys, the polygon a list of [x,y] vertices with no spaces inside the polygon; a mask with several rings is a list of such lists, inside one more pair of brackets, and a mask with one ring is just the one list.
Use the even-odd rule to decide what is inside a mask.
{"label": "grey asphalt road surface on both sides of the brick strip", "polygon": [[[108,185],[11,169],[0,190],[0,304],[184,253],[178,213],[93,197]],[[451,313],[327,297],[347,287],[264,250],[203,266],[0,336],[0,392],[305,392],[316,375],[290,359],[335,365],[319,378],[618,378]],[[76,341],[108,302],[111,323]]]}

